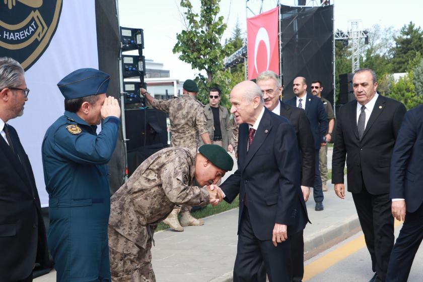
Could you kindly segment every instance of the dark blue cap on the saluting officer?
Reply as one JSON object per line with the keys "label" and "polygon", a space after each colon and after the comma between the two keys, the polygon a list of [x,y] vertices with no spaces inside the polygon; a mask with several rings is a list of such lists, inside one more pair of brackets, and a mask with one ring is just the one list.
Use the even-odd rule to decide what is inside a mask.
{"label": "dark blue cap on the saluting officer", "polygon": [[110,75],[96,69],[76,70],[57,83],[65,99],[106,93]]}

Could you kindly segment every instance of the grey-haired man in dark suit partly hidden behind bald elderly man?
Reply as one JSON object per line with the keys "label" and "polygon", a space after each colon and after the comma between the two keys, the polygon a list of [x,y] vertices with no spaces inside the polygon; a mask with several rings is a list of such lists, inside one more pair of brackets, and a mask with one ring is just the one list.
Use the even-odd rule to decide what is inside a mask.
{"label": "grey-haired man in dark suit partly hidden behind bald elderly man", "polygon": [[[313,133],[306,112],[279,100],[283,87],[279,78],[272,71],[258,75],[257,85],[263,94],[264,106],[276,115],[287,118],[295,129],[298,148],[300,149],[300,184],[304,201],[310,195],[310,187],[314,185],[315,150]],[[304,238],[303,230],[291,236],[292,281],[301,281],[304,275]],[[264,280],[264,279],[263,279]]]}

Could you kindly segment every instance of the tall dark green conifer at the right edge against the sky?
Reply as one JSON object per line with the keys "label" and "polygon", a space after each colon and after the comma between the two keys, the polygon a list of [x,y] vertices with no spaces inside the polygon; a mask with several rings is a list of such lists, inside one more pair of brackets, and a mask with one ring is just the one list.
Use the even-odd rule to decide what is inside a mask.
{"label": "tall dark green conifer at the right edge against the sky", "polygon": [[393,71],[403,73],[408,69],[409,62],[415,58],[417,52],[423,53],[423,31],[410,22],[408,26],[404,25],[401,28],[400,35],[394,40]]}

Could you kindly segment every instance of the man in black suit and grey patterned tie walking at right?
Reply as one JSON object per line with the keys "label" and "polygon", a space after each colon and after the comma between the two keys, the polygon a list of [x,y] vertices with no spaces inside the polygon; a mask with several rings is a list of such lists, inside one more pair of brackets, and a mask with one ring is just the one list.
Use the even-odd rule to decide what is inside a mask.
{"label": "man in black suit and grey patterned tie walking at right", "polygon": [[336,142],[332,156],[332,183],[344,199],[346,158],[348,191],[353,194],[375,275],[385,281],[394,245],[394,219],[389,197],[389,168],[405,106],[376,92],[371,69],[353,77],[355,101],[343,105],[337,115]]}

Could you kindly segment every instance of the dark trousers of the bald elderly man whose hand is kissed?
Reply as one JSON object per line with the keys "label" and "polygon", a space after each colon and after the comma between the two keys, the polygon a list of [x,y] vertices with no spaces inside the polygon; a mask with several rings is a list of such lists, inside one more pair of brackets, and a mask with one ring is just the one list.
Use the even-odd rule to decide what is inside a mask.
{"label": "dark trousers of the bald elderly man whose hand is kissed", "polygon": [[248,210],[244,207],[238,235],[234,282],[261,281],[264,262],[269,282],[290,282],[290,238],[273,246],[271,240],[261,241],[254,235]]}

